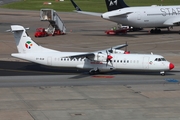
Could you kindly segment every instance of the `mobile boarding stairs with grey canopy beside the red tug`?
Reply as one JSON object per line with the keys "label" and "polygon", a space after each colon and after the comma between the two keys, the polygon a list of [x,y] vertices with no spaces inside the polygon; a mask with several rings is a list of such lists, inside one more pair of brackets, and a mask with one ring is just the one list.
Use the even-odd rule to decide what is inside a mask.
{"label": "mobile boarding stairs with grey canopy beside the red tug", "polygon": [[49,26],[46,29],[48,34],[60,35],[66,33],[66,27],[63,21],[60,19],[58,14],[53,9],[41,9],[40,10],[40,20],[49,21]]}

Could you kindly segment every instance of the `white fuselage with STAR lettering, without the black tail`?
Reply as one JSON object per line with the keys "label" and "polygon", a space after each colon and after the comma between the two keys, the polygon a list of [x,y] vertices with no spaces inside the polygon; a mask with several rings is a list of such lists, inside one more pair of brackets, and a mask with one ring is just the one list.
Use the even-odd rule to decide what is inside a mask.
{"label": "white fuselage with STAR lettering, without the black tail", "polygon": [[[179,25],[180,6],[127,7],[102,14],[102,18],[133,27],[168,27]],[[178,20],[177,20],[178,19]]]}

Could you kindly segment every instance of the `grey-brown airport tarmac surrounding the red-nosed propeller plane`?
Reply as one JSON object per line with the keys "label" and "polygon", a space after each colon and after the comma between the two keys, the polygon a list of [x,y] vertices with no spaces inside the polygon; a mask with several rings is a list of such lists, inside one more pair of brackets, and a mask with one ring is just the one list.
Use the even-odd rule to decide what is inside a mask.
{"label": "grey-brown airport tarmac surrounding the red-nosed propeller plane", "polygon": [[[150,29],[108,36],[115,23],[94,16],[58,12],[67,34],[35,38],[47,27],[39,11],[0,9],[1,120],[180,120],[180,27],[161,34]],[[118,71],[90,76],[88,71],[51,68],[12,58],[16,53],[10,25],[30,27],[38,44],[60,51],[96,51],[128,42],[131,53],[163,55],[175,65],[159,73]]]}

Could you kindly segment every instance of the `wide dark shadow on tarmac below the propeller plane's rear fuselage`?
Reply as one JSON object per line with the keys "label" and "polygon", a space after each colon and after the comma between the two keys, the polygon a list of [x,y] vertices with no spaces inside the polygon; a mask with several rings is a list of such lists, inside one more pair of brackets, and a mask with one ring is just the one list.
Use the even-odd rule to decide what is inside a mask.
{"label": "wide dark shadow on tarmac below the propeller plane's rear fuselage", "polygon": [[64,75],[83,73],[75,68],[48,67],[31,62],[0,61],[0,76],[17,75]]}

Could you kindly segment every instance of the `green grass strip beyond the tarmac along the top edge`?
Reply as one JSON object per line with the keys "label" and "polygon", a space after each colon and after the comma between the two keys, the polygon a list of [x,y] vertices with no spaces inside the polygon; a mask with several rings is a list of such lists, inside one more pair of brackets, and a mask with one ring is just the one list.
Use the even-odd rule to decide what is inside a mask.
{"label": "green grass strip beyond the tarmac along the top edge", "polygon": [[[105,0],[74,0],[84,11],[106,12]],[[124,0],[129,6],[149,6],[149,5],[180,5],[180,0]],[[45,5],[44,2],[51,2]],[[56,0],[21,0],[0,6],[1,8],[40,10],[44,8],[56,11],[73,11],[74,7],[70,0],[57,2]]]}

